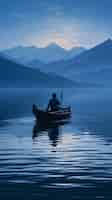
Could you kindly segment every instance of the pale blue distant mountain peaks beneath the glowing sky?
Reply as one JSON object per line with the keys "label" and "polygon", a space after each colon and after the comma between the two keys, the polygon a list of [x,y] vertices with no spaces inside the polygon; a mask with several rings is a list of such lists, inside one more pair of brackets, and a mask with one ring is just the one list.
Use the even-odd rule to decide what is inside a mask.
{"label": "pale blue distant mountain peaks beneath the glowing sky", "polygon": [[39,62],[48,63],[63,59],[66,60],[80,54],[83,51],[85,51],[83,47],[76,47],[71,50],[65,50],[64,48],[56,44],[50,44],[45,48],[20,46],[5,50],[3,51],[3,53],[5,56],[24,64],[31,64],[37,60],[37,62],[35,62],[35,65],[36,67],[38,67]]}

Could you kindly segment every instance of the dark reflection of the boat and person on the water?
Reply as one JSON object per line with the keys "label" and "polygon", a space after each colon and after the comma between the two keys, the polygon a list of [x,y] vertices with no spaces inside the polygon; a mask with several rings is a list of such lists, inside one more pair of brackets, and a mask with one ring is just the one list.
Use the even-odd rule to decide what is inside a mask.
{"label": "dark reflection of the boat and person on the water", "polygon": [[56,147],[59,141],[60,134],[61,134],[61,130],[62,130],[61,127],[68,123],[70,123],[69,120],[61,121],[61,122],[53,122],[53,123],[44,125],[44,124],[39,124],[36,121],[33,127],[33,131],[32,131],[32,139],[34,141],[35,138],[39,137],[40,134],[47,133],[48,138],[51,142],[51,145],[53,147]]}

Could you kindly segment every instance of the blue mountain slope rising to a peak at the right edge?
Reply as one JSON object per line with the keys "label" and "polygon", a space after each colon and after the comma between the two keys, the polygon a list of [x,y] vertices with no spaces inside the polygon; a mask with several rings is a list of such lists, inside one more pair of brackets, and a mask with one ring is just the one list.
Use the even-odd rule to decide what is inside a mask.
{"label": "blue mountain slope rising to a peak at the right edge", "polygon": [[81,53],[68,61],[48,64],[46,71],[82,81],[103,81],[112,76],[112,40]]}

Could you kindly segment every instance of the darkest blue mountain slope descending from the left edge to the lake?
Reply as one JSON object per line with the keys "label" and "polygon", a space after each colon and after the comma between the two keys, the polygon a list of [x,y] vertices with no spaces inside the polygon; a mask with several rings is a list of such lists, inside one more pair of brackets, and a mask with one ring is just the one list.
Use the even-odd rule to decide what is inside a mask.
{"label": "darkest blue mountain slope descending from the left edge to the lake", "polygon": [[0,57],[0,85],[1,87],[71,87],[73,82]]}

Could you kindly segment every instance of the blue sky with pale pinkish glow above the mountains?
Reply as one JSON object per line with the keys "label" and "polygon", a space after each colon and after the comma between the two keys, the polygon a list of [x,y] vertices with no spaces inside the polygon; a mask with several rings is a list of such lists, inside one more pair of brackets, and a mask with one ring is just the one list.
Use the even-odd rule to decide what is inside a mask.
{"label": "blue sky with pale pinkish glow above the mountains", "polygon": [[0,49],[91,48],[112,38],[112,0],[0,0]]}

